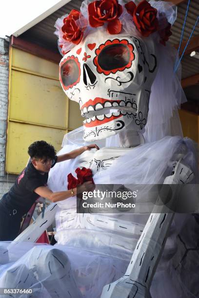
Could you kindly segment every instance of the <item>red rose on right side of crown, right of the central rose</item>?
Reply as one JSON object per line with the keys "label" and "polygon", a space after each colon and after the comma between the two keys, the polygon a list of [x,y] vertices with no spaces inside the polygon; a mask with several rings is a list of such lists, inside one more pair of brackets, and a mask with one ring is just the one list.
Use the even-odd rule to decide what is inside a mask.
{"label": "red rose on right side of crown, right of the central rose", "polygon": [[158,30],[157,9],[146,0],[141,1],[137,7],[133,1],[130,1],[125,4],[125,8],[133,17],[134,24],[142,36],[148,37]]}

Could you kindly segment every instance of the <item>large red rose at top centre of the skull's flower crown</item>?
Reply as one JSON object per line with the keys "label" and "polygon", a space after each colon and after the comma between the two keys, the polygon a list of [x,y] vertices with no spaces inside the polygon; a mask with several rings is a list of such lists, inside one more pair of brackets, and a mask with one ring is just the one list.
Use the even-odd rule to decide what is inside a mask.
{"label": "large red rose at top centre of the skull's flower crown", "polygon": [[121,22],[118,18],[122,14],[122,6],[118,0],[96,0],[88,5],[88,14],[91,27],[100,27],[107,22],[109,34],[121,32]]}

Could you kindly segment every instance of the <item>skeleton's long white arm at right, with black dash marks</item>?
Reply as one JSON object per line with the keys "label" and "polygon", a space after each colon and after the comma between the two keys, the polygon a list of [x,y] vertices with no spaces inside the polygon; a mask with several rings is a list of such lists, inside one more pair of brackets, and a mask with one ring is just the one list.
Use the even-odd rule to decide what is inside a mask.
{"label": "skeleton's long white arm at right, with black dash marks", "polygon": [[[194,178],[190,168],[180,160],[174,175],[166,177],[164,184],[186,184]],[[176,188],[172,191],[170,203],[175,204]],[[157,202],[159,201],[159,198]],[[156,207],[155,207],[156,208]],[[174,212],[165,205],[161,213],[151,213],[139,238],[125,275],[104,286],[101,298],[150,298],[150,285],[163,251]]]}

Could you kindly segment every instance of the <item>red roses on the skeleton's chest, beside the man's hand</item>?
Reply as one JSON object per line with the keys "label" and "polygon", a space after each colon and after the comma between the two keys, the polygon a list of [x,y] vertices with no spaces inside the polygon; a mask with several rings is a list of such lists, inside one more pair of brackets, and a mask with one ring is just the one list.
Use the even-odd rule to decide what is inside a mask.
{"label": "red roses on the skeleton's chest, beside the man's hand", "polygon": [[75,172],[78,179],[75,178],[71,173],[68,174],[68,189],[75,188],[86,181],[91,181],[94,184],[93,173],[90,168],[76,168]]}

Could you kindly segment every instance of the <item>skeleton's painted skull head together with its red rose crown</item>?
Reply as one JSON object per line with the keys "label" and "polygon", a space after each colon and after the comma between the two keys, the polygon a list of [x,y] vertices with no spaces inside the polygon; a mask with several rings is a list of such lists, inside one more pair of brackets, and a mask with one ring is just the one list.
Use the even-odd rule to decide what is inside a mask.
{"label": "skeleton's painted skull head together with its red rose crown", "polygon": [[[118,0],[85,0],[81,13],[73,10],[56,23],[64,55],[60,82],[68,98],[80,104],[85,141],[109,137],[129,124],[137,131],[146,125],[158,64],[158,38],[149,37],[159,28],[156,16],[146,0],[138,7],[132,1],[124,7]],[[160,39],[166,40],[164,34]]]}

